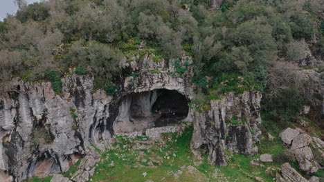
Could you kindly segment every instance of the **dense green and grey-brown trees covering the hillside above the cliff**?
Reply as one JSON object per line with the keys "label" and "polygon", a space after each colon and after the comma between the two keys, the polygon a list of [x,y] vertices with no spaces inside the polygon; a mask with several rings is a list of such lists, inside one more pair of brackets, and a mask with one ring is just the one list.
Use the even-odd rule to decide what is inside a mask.
{"label": "dense green and grey-brown trees covering the hillside above the cliff", "polygon": [[21,6],[0,21],[1,90],[18,78],[52,81],[60,92],[60,78],[76,68],[77,74],[91,74],[96,88],[114,94],[123,57],[151,52],[167,60],[186,54],[194,60],[198,102],[261,90],[264,110],[275,119],[292,119],[303,106],[294,70],[307,52],[323,59],[324,1],[223,0],[217,8],[211,3],[55,0]]}

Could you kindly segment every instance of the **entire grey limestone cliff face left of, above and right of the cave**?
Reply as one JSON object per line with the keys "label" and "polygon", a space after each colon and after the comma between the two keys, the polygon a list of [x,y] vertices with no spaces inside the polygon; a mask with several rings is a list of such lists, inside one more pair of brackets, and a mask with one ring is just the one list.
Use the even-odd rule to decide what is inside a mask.
{"label": "entire grey limestone cliff face left of, above and right of the cave", "polygon": [[[82,165],[86,169],[80,169],[72,180],[87,181],[94,172],[89,166],[97,161],[87,148],[109,143],[116,132],[115,121],[129,122],[120,117],[127,95],[175,90],[190,102],[195,88],[190,58],[155,62],[152,57],[147,54],[123,65],[123,75],[137,74],[123,77],[114,97],[107,97],[102,90],[93,92],[93,79],[87,76],[64,77],[60,94],[53,92],[51,83],[17,81],[14,90],[0,95],[0,179],[20,182],[35,175],[66,172],[85,156]],[[186,72],[179,75],[175,63]],[[151,96],[148,101],[152,102]],[[145,98],[137,102],[139,111],[148,111]],[[255,154],[260,99],[258,92],[244,92],[238,97],[229,93],[211,101],[208,111],[190,108],[184,120],[194,123],[192,152],[199,156],[199,149],[207,146],[210,163],[217,165],[226,165],[225,149]]]}

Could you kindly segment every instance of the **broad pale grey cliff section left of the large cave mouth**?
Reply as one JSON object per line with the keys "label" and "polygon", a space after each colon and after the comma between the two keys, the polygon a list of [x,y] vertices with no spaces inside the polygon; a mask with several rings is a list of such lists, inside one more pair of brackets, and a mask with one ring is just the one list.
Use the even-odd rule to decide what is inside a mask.
{"label": "broad pale grey cliff section left of the large cave mouth", "polygon": [[89,77],[68,76],[62,86],[55,94],[51,83],[18,81],[0,96],[0,169],[15,181],[65,172],[89,143],[110,138],[112,98],[92,94]]}

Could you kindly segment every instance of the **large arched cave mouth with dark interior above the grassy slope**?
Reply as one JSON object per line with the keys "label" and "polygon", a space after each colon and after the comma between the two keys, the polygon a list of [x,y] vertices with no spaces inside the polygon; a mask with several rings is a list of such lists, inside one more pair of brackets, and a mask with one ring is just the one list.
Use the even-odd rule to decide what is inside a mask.
{"label": "large arched cave mouth with dark interior above the grassy slope", "polygon": [[149,128],[176,124],[186,119],[188,111],[188,100],[177,90],[128,94],[114,121],[114,132],[145,132]]}

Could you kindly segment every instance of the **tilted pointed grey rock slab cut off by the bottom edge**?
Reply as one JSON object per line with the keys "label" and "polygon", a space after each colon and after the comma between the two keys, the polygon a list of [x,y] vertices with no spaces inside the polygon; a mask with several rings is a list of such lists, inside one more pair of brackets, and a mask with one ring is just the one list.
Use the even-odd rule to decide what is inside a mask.
{"label": "tilted pointed grey rock slab cut off by the bottom edge", "polygon": [[289,163],[284,163],[276,174],[277,182],[308,182],[303,176],[301,176],[294,168],[291,168]]}

